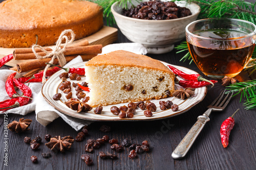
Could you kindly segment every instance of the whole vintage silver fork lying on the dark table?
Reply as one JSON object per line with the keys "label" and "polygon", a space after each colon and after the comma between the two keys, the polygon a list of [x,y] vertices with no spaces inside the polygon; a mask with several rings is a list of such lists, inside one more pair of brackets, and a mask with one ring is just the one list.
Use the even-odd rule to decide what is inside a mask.
{"label": "whole vintage silver fork lying on the dark table", "polygon": [[[186,136],[181,140],[176,149],[174,150],[172,157],[174,159],[183,158],[188,150],[191,148],[192,144],[196,140],[199,133],[202,131],[206,122],[210,120],[209,116],[211,111],[223,111],[230,101],[233,91],[229,91],[224,98],[226,90],[222,91],[220,95],[212,102],[207,108],[206,112],[203,115],[197,117],[197,122],[194,126],[188,131]],[[223,99],[224,98],[224,99]]]}

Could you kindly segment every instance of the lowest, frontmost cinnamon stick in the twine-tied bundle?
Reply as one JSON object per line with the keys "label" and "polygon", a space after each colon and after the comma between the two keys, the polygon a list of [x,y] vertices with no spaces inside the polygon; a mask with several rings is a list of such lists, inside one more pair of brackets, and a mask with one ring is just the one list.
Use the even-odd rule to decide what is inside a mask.
{"label": "lowest, frontmost cinnamon stick in the twine-tied bundle", "polygon": [[[83,61],[86,61],[88,59],[92,59],[96,55],[97,54],[81,55],[81,57],[82,57],[82,59],[84,59]],[[71,60],[73,60],[76,57],[77,57],[77,55],[66,56],[66,61],[70,62]],[[27,62],[18,63],[17,71],[18,71],[18,73],[20,73],[20,72],[26,72],[26,71],[29,71],[29,70],[32,70],[35,68],[45,67],[46,63],[49,61],[51,61],[51,58],[45,58],[45,59],[40,59],[40,60],[30,60]],[[58,60],[55,59],[53,64],[58,64]]]}

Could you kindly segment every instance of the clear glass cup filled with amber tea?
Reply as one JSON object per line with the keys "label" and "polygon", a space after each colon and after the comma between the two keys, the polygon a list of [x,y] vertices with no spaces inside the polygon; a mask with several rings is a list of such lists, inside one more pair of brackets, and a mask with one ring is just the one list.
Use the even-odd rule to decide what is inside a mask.
{"label": "clear glass cup filled with amber tea", "polygon": [[246,20],[209,18],[186,27],[189,52],[208,77],[237,76],[249,62],[256,41],[256,26]]}

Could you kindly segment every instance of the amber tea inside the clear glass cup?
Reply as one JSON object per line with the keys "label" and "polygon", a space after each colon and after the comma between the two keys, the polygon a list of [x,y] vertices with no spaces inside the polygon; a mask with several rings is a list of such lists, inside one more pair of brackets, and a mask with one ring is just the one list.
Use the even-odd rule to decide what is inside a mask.
{"label": "amber tea inside the clear glass cup", "polygon": [[[246,40],[236,40],[235,37],[242,37],[246,33],[234,30],[207,30],[194,33],[206,38],[234,38],[232,41],[223,43],[193,39],[188,42],[191,56],[199,69],[207,75],[223,75],[234,77],[242,71],[249,61],[254,44]],[[246,45],[247,44],[247,45]]]}

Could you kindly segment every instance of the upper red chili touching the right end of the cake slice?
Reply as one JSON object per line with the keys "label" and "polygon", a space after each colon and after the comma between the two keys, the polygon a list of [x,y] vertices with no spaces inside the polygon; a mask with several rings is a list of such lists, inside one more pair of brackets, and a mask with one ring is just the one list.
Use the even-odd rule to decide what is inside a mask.
{"label": "upper red chili touching the right end of the cake slice", "polygon": [[175,75],[178,75],[179,77],[181,77],[182,79],[184,80],[187,80],[187,81],[206,81],[206,82],[209,82],[210,84],[212,84],[212,87],[214,87],[214,83],[212,83],[210,80],[207,80],[205,78],[203,78],[201,75],[199,74],[193,74],[193,75],[188,75],[188,74],[185,74],[185,72],[171,66],[171,65],[167,65],[170,70],[172,70],[174,72]]}

